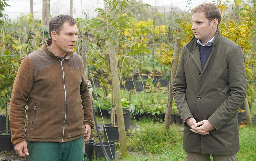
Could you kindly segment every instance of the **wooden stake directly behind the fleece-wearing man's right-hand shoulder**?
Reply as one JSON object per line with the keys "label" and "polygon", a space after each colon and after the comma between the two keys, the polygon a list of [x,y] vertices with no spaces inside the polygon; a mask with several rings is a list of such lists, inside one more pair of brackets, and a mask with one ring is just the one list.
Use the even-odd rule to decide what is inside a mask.
{"label": "wooden stake directly behind the fleece-wearing man's right-hand shoulder", "polygon": [[[83,63],[84,63],[85,80],[88,80],[88,45],[89,45],[88,37],[83,36],[83,39],[82,39],[82,60],[83,60]],[[80,53],[79,53],[79,55],[80,55]]]}

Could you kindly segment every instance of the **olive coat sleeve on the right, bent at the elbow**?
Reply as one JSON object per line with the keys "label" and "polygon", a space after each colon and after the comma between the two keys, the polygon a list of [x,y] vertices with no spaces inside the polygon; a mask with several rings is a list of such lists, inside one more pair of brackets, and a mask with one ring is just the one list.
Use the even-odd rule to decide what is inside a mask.
{"label": "olive coat sleeve on the right, bent at the elbow", "polygon": [[240,46],[233,50],[228,61],[228,86],[230,96],[208,118],[217,130],[236,115],[246,96],[244,53]]}

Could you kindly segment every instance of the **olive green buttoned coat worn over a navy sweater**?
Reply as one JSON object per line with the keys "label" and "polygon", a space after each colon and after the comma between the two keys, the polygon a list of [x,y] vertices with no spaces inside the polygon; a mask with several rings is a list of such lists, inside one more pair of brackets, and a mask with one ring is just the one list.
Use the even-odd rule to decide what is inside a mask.
{"label": "olive green buttoned coat worn over a navy sweater", "polygon": [[202,70],[199,45],[193,37],[182,47],[173,94],[182,121],[209,120],[208,135],[190,131],[184,123],[183,149],[203,154],[231,155],[239,151],[237,110],[246,93],[244,54],[240,46],[220,35]]}

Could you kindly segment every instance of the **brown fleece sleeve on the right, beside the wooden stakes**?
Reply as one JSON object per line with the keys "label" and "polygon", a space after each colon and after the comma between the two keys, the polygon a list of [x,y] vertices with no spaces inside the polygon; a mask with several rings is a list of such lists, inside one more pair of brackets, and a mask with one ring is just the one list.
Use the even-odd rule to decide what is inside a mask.
{"label": "brown fleece sleeve on the right, beside the wooden stakes", "polygon": [[84,65],[83,65],[82,59],[81,59],[81,77],[82,77],[82,82],[80,85],[80,94],[81,94],[81,98],[82,98],[82,105],[84,108],[84,124],[91,125],[91,127],[93,129],[94,122],[93,122],[91,98],[90,98],[87,80],[85,80]]}

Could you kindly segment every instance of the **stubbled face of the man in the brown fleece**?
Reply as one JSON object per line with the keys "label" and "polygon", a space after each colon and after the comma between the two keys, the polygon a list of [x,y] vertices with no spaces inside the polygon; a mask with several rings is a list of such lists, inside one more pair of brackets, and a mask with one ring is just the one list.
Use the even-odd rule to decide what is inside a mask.
{"label": "stubbled face of the man in the brown fleece", "polygon": [[56,46],[60,53],[71,53],[77,41],[78,30],[76,24],[70,26],[68,22],[63,24],[60,35],[56,34]]}

